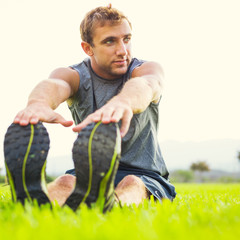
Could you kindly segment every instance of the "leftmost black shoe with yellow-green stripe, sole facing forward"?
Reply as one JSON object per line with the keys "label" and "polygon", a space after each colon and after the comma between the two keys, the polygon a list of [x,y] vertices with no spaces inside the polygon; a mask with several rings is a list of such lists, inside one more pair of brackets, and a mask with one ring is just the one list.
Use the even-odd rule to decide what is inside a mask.
{"label": "leftmost black shoe with yellow-green stripe, sole facing forward", "polygon": [[4,139],[5,167],[13,201],[50,202],[45,180],[49,136],[42,123],[11,124]]}

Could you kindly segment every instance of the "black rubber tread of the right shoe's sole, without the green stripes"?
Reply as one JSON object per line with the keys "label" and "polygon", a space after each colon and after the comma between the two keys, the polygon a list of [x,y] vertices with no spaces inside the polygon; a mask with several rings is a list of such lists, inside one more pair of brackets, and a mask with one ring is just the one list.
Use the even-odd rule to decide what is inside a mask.
{"label": "black rubber tread of the right shoe's sole, without the green stripes", "polygon": [[[87,192],[89,182],[88,142],[94,126],[95,124],[90,124],[84,128],[79,133],[78,138],[73,146],[73,161],[75,165],[77,180],[73,193],[66,201],[66,204],[73,210],[76,210],[78,208]],[[89,207],[92,203],[96,202],[99,193],[100,182],[110,168],[116,144],[116,131],[117,129],[115,123],[100,124],[93,135],[91,151],[93,173],[92,184],[91,191],[85,201]],[[120,155],[117,156],[113,171],[110,176],[110,181],[107,184],[105,196],[106,198],[113,195],[113,178],[116,175],[119,158]]]}

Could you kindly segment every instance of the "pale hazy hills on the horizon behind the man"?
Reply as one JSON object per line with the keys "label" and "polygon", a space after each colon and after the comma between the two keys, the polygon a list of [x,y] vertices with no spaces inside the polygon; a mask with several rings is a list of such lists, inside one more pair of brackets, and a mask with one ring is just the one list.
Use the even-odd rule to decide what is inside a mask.
{"label": "pale hazy hills on the horizon behind the man", "polygon": [[[194,161],[206,161],[210,169],[224,172],[240,171],[237,152],[240,151],[240,139],[223,139],[202,142],[161,142],[163,157],[169,171],[189,169]],[[49,156],[47,173],[51,175],[63,174],[73,168],[71,155]]]}

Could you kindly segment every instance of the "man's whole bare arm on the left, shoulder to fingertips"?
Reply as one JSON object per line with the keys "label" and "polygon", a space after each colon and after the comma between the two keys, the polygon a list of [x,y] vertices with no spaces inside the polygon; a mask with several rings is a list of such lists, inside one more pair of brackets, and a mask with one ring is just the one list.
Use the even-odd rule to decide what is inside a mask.
{"label": "man's whole bare arm on the left, shoulder to fingertips", "polygon": [[51,73],[49,79],[40,82],[31,92],[25,109],[20,111],[14,123],[27,125],[36,124],[38,121],[49,123],[61,123],[63,126],[71,126],[72,121],[66,121],[53,110],[64,102],[79,85],[78,73],[70,68],[59,68]]}

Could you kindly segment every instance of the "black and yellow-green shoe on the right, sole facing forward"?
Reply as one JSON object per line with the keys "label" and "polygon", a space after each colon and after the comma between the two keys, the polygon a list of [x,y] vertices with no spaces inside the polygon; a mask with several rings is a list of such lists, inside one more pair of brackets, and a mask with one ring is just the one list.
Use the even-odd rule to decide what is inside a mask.
{"label": "black and yellow-green shoe on the right, sole facing forward", "polygon": [[102,212],[113,207],[114,180],[121,152],[116,123],[93,123],[84,128],[73,145],[76,186],[65,205],[74,211],[81,203]]}

